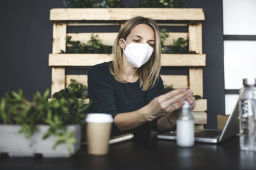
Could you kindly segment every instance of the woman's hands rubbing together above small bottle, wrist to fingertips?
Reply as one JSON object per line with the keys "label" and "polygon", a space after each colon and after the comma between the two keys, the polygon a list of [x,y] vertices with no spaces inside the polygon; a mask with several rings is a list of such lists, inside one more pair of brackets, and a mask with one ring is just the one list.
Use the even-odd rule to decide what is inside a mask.
{"label": "woman's hands rubbing together above small bottle, wrist to fingertips", "polygon": [[[181,108],[184,100],[188,100],[191,107],[195,107],[195,99],[191,91],[187,89],[176,89],[153,99],[147,106],[143,107],[145,117],[152,121],[157,117],[162,117],[174,110]],[[146,110],[146,111],[145,111]]]}

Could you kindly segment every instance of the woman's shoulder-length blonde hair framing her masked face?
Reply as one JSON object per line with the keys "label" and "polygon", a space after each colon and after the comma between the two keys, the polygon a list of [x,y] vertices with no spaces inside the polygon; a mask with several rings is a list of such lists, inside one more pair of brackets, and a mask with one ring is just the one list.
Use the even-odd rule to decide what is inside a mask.
{"label": "woman's shoulder-length blonde hair framing her masked face", "polygon": [[118,32],[118,36],[115,39],[115,43],[113,45],[112,54],[113,61],[109,64],[109,70],[113,76],[115,76],[116,81],[121,83],[127,83],[122,78],[122,73],[124,72],[124,64],[123,64],[123,50],[119,45],[119,39],[126,39],[130,34],[131,30],[138,24],[147,24],[155,32],[155,45],[154,52],[152,53],[148,62],[146,62],[143,66],[138,69],[138,74],[140,76],[140,87],[142,90],[146,91],[150,87],[153,87],[158,82],[159,72],[161,69],[161,45],[160,45],[160,37],[159,37],[159,29],[157,27],[156,22],[150,18],[144,17],[134,17],[130,20],[127,20],[124,25],[121,27]]}

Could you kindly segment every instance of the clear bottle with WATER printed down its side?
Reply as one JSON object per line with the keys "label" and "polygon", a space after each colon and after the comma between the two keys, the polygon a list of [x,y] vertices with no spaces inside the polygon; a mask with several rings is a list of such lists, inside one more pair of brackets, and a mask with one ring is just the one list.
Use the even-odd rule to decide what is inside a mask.
{"label": "clear bottle with WATER printed down its side", "polygon": [[241,150],[256,151],[256,79],[244,78],[239,94],[239,127]]}

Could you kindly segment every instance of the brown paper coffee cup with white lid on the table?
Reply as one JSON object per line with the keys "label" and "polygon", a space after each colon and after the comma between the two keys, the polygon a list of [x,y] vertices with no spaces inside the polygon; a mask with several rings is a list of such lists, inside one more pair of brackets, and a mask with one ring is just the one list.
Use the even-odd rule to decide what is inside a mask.
{"label": "brown paper coffee cup with white lid on the table", "polygon": [[105,113],[90,113],[86,117],[86,138],[88,153],[105,155],[108,153],[109,137],[113,118]]}

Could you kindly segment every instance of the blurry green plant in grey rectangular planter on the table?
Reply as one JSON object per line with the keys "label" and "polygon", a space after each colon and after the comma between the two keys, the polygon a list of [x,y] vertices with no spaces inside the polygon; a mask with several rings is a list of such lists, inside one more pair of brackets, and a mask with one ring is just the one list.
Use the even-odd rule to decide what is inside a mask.
{"label": "blurry green plant in grey rectangular planter on the table", "polygon": [[31,102],[22,90],[6,93],[0,103],[0,153],[70,157],[81,146],[87,95],[86,87],[75,80],[51,101],[49,90],[43,96],[36,92]]}

